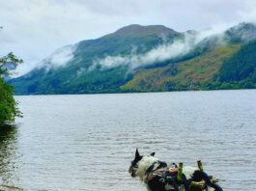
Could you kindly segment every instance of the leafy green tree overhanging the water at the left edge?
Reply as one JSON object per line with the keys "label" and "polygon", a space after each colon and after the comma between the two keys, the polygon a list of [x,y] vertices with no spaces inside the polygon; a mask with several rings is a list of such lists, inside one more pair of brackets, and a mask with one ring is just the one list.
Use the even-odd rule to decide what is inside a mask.
{"label": "leafy green tree overhanging the water at the left edge", "polygon": [[15,117],[22,117],[14,99],[14,87],[7,84],[3,77],[3,75],[12,74],[10,66],[16,66],[22,62],[12,52],[7,56],[0,57],[0,126],[14,122]]}

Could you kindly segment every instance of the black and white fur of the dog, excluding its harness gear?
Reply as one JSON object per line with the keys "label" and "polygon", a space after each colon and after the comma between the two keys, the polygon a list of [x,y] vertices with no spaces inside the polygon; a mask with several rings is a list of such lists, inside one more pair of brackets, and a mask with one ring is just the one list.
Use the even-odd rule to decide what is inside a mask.
{"label": "black and white fur of the dog, excluding its harness gear", "polygon": [[[175,166],[174,163],[173,166]],[[140,180],[147,185],[147,189],[149,191],[203,190],[202,188],[198,187],[187,188],[185,184],[179,185],[179,187],[177,185],[172,185],[166,181],[164,175],[159,174],[159,172],[162,172],[161,169],[169,169],[169,166],[167,168],[167,164],[165,162],[159,161],[155,157],[155,152],[151,153],[150,155],[142,156],[139,154],[139,151],[136,150],[135,157],[131,161],[131,165],[128,169],[128,172],[131,175],[131,177],[139,177]],[[193,181],[200,181],[204,179],[207,184],[211,184],[210,178],[204,172],[199,171],[197,168],[185,166],[183,168],[183,174],[186,179],[190,179]],[[206,189],[208,191],[214,190],[213,188],[210,187],[207,187]]]}

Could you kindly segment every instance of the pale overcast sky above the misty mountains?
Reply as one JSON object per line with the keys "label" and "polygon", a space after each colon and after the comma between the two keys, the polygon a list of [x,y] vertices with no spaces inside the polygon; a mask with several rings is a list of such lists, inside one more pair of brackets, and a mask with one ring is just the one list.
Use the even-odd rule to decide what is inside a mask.
{"label": "pale overcast sky above the misty mountains", "polygon": [[12,51],[22,58],[22,74],[61,46],[128,24],[162,24],[184,32],[242,21],[256,21],[255,0],[3,0],[0,56]]}

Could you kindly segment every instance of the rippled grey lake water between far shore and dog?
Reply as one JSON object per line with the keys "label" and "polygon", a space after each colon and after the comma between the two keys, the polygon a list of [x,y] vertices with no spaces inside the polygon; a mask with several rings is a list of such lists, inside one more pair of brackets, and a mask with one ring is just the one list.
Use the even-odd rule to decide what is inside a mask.
{"label": "rippled grey lake water between far shore and dog", "polygon": [[0,184],[24,190],[144,191],[136,148],[256,190],[256,91],[15,96],[24,118],[0,130]]}

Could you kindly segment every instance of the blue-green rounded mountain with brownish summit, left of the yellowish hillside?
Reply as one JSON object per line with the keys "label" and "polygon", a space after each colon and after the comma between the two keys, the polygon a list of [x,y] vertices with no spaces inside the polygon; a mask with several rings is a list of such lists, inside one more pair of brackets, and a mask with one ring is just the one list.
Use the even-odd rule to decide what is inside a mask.
{"label": "blue-green rounded mountain with brownish summit, left of the yellowish hillside", "polygon": [[134,47],[136,54],[142,54],[158,44],[179,38],[182,38],[182,34],[164,26],[130,25],[97,40],[78,42],[75,44],[73,58],[66,67],[36,68],[26,75],[13,79],[11,83],[15,87],[16,95],[119,92],[120,86],[131,78],[128,67],[96,66],[91,70],[90,67],[94,65],[95,60],[106,55],[128,55]]}

